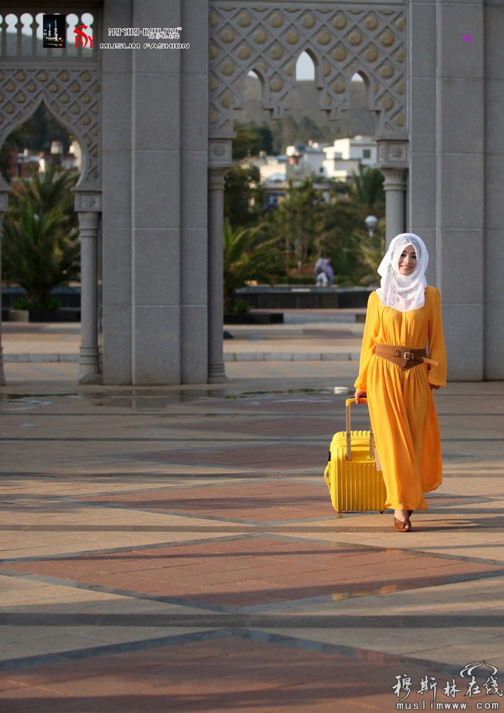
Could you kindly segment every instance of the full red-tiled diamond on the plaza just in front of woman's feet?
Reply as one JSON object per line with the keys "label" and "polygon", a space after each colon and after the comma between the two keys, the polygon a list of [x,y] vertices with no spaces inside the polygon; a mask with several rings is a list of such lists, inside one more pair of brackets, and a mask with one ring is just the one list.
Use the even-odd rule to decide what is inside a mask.
{"label": "full red-tiled diamond on the plaza just in front of woman's feet", "polygon": [[498,565],[396,550],[341,548],[264,537],[9,566],[24,573],[233,607],[435,586],[453,576],[504,572]]}

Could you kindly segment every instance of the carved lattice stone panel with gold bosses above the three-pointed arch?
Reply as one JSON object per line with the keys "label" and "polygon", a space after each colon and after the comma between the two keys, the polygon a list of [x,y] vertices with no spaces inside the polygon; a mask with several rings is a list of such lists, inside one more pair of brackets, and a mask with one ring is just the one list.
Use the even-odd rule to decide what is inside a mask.
{"label": "carved lattice stone panel with gold bosses above the three-pointed arch", "polygon": [[314,59],[319,106],[338,118],[349,106],[356,71],[369,80],[369,108],[379,112],[377,133],[406,128],[402,6],[334,6],[307,2],[279,9],[210,0],[210,136],[232,136],[233,109],[242,106],[243,83],[254,71],[263,106],[281,118],[295,85],[296,61]]}

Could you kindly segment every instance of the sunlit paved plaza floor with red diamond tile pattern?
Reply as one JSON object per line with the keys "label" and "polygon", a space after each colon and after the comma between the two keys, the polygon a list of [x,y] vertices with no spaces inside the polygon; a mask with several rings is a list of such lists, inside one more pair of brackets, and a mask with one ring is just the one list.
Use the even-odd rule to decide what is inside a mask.
{"label": "sunlit paved plaza floor with red diamond tile pattern", "polygon": [[[322,354],[321,324],[354,353],[354,322],[278,338]],[[1,712],[504,710],[504,384],[436,393],[444,483],[397,533],[334,513],[322,479],[356,369],[239,360],[228,384],[133,389],[7,362]]]}

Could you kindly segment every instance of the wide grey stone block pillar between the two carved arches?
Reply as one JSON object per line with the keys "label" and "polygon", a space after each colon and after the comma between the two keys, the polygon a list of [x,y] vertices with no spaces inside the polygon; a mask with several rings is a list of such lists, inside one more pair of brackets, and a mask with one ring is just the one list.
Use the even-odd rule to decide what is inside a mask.
{"label": "wide grey stone block pillar between the two carved arches", "polygon": [[207,380],[207,4],[107,0],[106,27],[190,50],[103,52],[103,381]]}

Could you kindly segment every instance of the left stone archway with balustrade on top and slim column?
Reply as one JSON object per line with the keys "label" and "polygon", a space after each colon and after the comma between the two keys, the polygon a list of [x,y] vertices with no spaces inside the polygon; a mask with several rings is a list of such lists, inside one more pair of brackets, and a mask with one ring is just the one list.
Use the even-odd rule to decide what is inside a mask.
{"label": "left stone archway with balustrade on top and slim column", "polygon": [[[101,63],[93,48],[43,48],[40,15],[60,13],[83,24],[91,16],[99,26],[99,6],[83,2],[78,9],[54,3],[24,4],[19,11],[0,4],[1,69],[0,145],[40,103],[76,136],[83,170],[75,188],[81,237],[81,348],[79,381],[101,381],[98,352],[98,225],[101,215]],[[37,19],[38,18],[38,19]],[[89,20],[88,20],[89,23]],[[57,53],[57,54],[56,54]],[[0,219],[8,205],[9,187],[0,178]],[[1,226],[1,220],[0,220]],[[0,379],[5,383],[0,347]]]}

